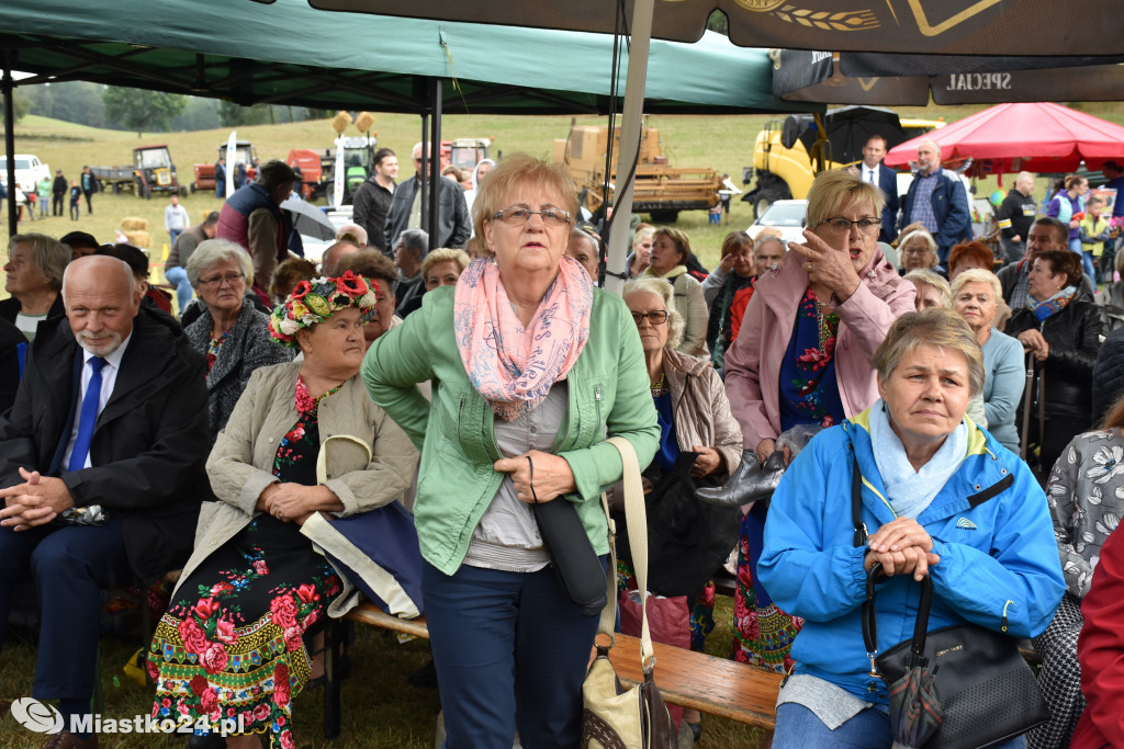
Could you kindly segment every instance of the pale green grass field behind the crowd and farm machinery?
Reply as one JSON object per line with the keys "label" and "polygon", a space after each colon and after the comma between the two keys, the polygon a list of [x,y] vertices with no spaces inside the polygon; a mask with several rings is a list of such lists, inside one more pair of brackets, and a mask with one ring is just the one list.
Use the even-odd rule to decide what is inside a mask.
{"label": "pale green grass field behind the crowd and farm machinery", "polygon": [[[903,117],[927,117],[954,121],[981,107],[935,107],[903,108]],[[1124,122],[1124,103],[1089,103],[1084,111],[1116,122]],[[710,166],[719,173],[728,173],[736,183],[742,167],[752,164],[753,140],[769,120],[768,116],[653,116],[646,122],[660,130],[663,148],[677,166]],[[596,117],[579,117],[579,125],[600,125],[605,120]],[[484,117],[455,115],[445,117],[442,133],[445,138],[493,137],[493,149],[499,153],[525,152],[535,156],[550,157],[554,138],[564,138],[571,118],[559,117]],[[411,115],[378,115],[374,126],[380,145],[393,148],[400,156],[422,138],[420,119]],[[350,135],[357,135],[352,129]],[[165,133],[144,135],[119,130],[100,130],[81,125],[28,116],[16,125],[16,152],[33,153],[48,163],[52,170],[62,168],[69,179],[75,179],[83,164],[110,166],[128,164],[132,150],[138,145],[167,144],[179,171],[180,180],[190,184],[192,164],[214,163],[217,146],[225,143],[229,130],[201,130],[194,133]],[[285,158],[291,148],[328,148],[335,137],[328,120],[312,120],[292,125],[261,125],[238,128],[238,137],[248,139],[257,148],[259,156]],[[402,164],[408,159],[401,158]],[[406,174],[404,172],[402,176]],[[1005,182],[1009,186],[1009,179]],[[981,180],[978,194],[987,195],[996,188],[995,177]],[[78,221],[69,218],[48,218],[39,222],[25,221],[21,231],[44,231],[62,236],[75,228],[89,231],[100,240],[112,239],[114,230],[125,217],[139,217],[148,221],[153,243],[153,257],[162,257],[167,235],[163,230],[163,210],[166,198],[155,197],[145,201],[129,194],[112,195],[98,193],[94,197],[94,213],[84,212]],[[192,221],[198,221],[207,211],[215,210],[219,202],[214,195],[194,194],[185,201]],[[696,253],[706,265],[717,262],[722,239],[732,229],[744,229],[753,219],[747,203],[733,201],[729,223],[713,226],[707,223],[705,211],[689,211],[680,214],[678,227],[691,237]],[[7,222],[0,229],[7,232]],[[7,235],[4,235],[7,236]]]}

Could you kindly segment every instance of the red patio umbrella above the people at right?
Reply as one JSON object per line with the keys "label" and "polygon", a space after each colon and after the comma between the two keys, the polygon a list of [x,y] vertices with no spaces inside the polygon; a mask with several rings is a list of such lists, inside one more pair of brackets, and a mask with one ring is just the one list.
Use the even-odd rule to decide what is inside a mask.
{"label": "red patio umbrella above the people at right", "polygon": [[1099,170],[1124,161],[1124,127],[1053,103],[999,104],[906,140],[886,155],[887,166],[907,166],[924,139],[941,146],[941,159],[975,159],[978,174],[1072,172],[1081,162]]}

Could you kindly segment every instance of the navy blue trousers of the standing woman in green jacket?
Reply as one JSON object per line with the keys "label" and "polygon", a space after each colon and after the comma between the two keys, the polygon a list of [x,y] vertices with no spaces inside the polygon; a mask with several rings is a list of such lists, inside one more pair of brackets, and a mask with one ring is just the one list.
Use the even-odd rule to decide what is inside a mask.
{"label": "navy blue trousers of the standing woman in green jacket", "polygon": [[[602,559],[604,563],[604,559]],[[446,749],[577,749],[581,683],[597,634],[553,568],[462,565],[422,573]]]}

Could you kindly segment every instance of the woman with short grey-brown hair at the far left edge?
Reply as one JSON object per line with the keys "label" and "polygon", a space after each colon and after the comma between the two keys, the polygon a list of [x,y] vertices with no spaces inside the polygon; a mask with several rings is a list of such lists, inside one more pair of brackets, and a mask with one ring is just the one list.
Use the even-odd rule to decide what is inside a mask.
{"label": "woman with short grey-brown hair at the far left edge", "polygon": [[70,247],[44,234],[17,234],[8,240],[4,291],[0,318],[13,323],[28,342],[39,322],[63,317],[63,271],[71,262]]}

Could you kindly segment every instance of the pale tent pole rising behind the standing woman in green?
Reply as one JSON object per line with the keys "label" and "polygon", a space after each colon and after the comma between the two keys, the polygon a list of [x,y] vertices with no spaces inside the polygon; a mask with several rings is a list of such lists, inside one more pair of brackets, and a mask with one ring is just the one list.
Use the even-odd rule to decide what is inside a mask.
{"label": "pale tent pole rising behind the standing woman in green", "polygon": [[[652,42],[652,12],[655,0],[636,0],[633,7],[632,46],[628,51],[628,77],[625,81],[625,109],[620,119],[620,147],[617,155],[616,190],[613,213],[616,217],[609,232],[609,252],[605,261],[605,289],[615,294],[624,291],[628,274],[628,225],[632,219],[633,183],[625,180],[640,152],[640,130],[644,113],[644,84],[647,81],[647,48]],[[609,138],[613,134],[609,134]],[[622,184],[624,181],[624,184]]]}

